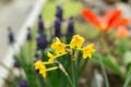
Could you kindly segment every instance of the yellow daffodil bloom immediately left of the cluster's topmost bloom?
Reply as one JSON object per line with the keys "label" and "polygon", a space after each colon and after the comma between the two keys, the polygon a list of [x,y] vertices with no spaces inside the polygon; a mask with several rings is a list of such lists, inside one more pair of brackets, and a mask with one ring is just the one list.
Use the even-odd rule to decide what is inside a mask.
{"label": "yellow daffodil bloom immediately left of the cluster's topmost bloom", "polygon": [[59,38],[56,38],[56,41],[51,45],[51,48],[55,49],[56,54],[66,54],[66,45],[61,42]]}

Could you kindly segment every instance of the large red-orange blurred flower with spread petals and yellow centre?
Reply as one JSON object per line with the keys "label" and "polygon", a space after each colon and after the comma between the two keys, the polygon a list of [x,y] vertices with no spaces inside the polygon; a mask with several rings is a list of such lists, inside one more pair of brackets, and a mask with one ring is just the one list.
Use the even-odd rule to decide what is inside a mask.
{"label": "large red-orange blurred flower with spread petals and yellow centre", "polygon": [[121,17],[121,11],[119,10],[106,12],[103,17],[99,17],[92,10],[83,9],[82,15],[100,32],[107,32],[118,26],[126,26],[129,23],[128,18]]}

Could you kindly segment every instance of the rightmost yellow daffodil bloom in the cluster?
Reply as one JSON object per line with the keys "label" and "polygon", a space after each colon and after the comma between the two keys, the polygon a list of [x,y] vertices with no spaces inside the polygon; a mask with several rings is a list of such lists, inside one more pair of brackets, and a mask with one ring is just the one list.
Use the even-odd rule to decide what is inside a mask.
{"label": "rightmost yellow daffodil bloom in the cluster", "polygon": [[95,52],[96,50],[94,49],[94,44],[87,45],[83,49],[83,59],[92,58],[92,53]]}

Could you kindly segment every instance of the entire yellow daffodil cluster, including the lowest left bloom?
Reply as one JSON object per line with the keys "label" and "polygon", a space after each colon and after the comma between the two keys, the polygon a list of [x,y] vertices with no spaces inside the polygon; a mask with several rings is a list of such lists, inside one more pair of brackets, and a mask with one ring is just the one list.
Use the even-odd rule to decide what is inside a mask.
{"label": "entire yellow daffodil cluster, including the lowest left bloom", "polygon": [[47,57],[49,58],[48,62],[37,61],[35,63],[35,70],[38,70],[39,74],[41,74],[41,76],[45,78],[48,71],[53,71],[58,69],[58,66],[47,69],[46,65],[53,63],[56,58],[67,54],[68,53],[66,52],[67,46],[70,46],[69,47],[70,49],[75,48],[76,50],[82,50],[83,59],[86,59],[87,57],[92,58],[92,53],[96,51],[94,49],[94,44],[87,45],[86,47],[82,47],[84,41],[85,39],[81,37],[80,35],[74,35],[72,37],[70,45],[66,45],[61,42],[59,38],[56,38],[56,41],[51,45],[51,48],[55,50],[55,55],[50,52],[47,52]]}

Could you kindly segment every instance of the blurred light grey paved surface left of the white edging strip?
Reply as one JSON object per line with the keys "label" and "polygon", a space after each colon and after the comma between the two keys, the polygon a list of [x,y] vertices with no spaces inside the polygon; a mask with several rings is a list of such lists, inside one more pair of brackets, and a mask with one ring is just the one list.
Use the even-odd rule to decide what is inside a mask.
{"label": "blurred light grey paved surface left of the white edging strip", "polygon": [[0,59],[4,58],[9,47],[8,26],[11,26],[16,35],[34,2],[35,0],[12,0],[8,3],[0,2]]}

